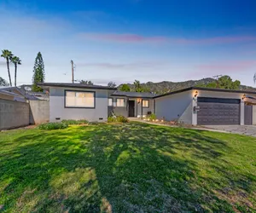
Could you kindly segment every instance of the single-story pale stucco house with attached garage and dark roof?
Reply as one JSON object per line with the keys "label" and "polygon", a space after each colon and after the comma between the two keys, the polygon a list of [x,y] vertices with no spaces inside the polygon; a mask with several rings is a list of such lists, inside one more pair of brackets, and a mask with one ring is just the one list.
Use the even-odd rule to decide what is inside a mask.
{"label": "single-story pale stucco house with attached garage and dark roof", "polygon": [[49,90],[49,120],[106,121],[113,113],[184,124],[256,124],[256,92],[191,87],[165,95],[82,83],[38,83]]}

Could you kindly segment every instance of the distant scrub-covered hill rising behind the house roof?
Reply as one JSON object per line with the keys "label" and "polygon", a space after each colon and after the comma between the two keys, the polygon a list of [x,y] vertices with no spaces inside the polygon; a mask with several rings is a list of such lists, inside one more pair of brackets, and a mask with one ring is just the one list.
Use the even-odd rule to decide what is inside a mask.
{"label": "distant scrub-covered hill rising behind the house roof", "polygon": [[[150,92],[156,93],[156,94],[165,94],[168,92],[176,91],[179,89],[185,89],[189,87],[196,86],[197,84],[207,84],[211,83],[212,81],[215,81],[214,78],[203,78],[201,80],[189,80],[184,82],[170,82],[170,81],[163,81],[159,83],[153,83],[153,82],[147,82],[147,83],[141,83],[143,87],[148,88]],[[134,89],[134,85],[131,83],[128,83],[131,89]],[[120,88],[122,84],[119,85],[118,88]],[[248,87],[245,85],[241,85],[241,90],[248,90],[248,91],[255,91],[256,88]]]}

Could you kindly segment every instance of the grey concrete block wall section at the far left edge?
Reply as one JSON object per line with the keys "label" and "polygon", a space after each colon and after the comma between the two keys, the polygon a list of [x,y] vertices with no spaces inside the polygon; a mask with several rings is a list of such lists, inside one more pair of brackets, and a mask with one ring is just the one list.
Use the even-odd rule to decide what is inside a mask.
{"label": "grey concrete block wall section at the far left edge", "polygon": [[0,99],[0,130],[8,130],[29,124],[29,104]]}

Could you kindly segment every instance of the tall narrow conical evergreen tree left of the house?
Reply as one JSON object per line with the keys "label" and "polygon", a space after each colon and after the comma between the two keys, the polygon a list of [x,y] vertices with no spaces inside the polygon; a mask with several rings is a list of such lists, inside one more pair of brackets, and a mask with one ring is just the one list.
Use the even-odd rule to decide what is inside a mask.
{"label": "tall narrow conical evergreen tree left of the house", "polygon": [[44,83],[44,60],[43,56],[40,52],[38,52],[38,55],[35,60],[34,70],[33,70],[33,78],[32,78],[32,91],[34,92],[42,92],[43,89],[38,87],[38,83]]}

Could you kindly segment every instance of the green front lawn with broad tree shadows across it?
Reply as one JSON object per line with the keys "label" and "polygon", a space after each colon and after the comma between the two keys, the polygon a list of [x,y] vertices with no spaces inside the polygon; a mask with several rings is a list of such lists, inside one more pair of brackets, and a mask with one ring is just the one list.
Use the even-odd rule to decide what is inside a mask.
{"label": "green front lawn with broad tree shadows across it", "polygon": [[253,212],[256,139],[149,124],[0,133],[3,212]]}

